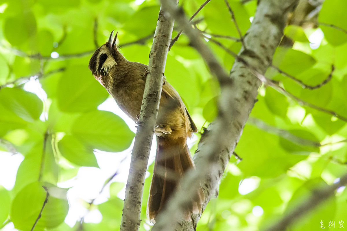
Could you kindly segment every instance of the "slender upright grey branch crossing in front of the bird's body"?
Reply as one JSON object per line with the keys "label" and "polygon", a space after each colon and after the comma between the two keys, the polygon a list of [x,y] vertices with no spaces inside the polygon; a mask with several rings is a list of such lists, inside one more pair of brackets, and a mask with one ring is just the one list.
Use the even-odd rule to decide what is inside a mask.
{"label": "slender upright grey branch crossing in front of the bird's body", "polygon": [[[177,0],[175,0],[177,5]],[[174,20],[160,8],[143,94],[141,113],[130,162],[120,231],[137,231],[140,225],[143,185],[158,115],[163,73]]]}

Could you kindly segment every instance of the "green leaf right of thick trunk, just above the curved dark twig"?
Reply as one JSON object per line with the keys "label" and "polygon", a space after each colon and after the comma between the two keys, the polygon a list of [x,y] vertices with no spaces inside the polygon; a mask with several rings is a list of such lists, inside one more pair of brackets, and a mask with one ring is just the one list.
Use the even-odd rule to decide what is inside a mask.
{"label": "green leaf right of thick trunk, just above the curved dark twig", "polygon": [[311,55],[284,47],[278,47],[273,56],[273,65],[294,76],[315,63],[316,61]]}

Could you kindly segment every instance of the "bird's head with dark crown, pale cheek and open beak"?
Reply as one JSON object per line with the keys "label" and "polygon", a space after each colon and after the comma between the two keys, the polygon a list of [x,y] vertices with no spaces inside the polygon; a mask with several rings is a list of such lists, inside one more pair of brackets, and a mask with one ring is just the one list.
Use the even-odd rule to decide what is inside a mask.
{"label": "bird's head with dark crown, pale cheek and open beak", "polygon": [[108,41],[99,47],[92,55],[88,68],[92,71],[95,79],[99,81],[109,74],[109,71],[113,66],[117,65],[117,60],[121,54],[119,53],[116,46],[117,34],[114,39],[113,31],[110,34]]}

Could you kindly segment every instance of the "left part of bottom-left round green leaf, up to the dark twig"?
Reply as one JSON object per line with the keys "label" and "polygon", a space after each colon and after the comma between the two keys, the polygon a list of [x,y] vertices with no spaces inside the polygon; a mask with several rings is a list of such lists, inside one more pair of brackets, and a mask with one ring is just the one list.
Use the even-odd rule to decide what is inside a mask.
{"label": "left part of bottom-left round green leaf, up to the dark twig", "polygon": [[[46,191],[39,182],[24,187],[12,201],[10,219],[16,229],[31,230],[46,199]],[[34,229],[43,230],[43,229]]]}

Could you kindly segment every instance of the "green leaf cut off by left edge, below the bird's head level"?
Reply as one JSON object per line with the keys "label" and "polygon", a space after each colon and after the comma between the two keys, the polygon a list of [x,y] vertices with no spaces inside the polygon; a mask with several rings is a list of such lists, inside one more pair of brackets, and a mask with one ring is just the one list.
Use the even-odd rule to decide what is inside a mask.
{"label": "green leaf cut off by left edge, below the bird's head level", "polygon": [[39,119],[43,109],[39,97],[19,88],[1,89],[0,103],[28,122]]}

